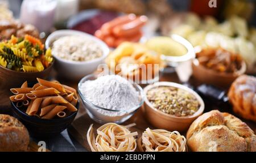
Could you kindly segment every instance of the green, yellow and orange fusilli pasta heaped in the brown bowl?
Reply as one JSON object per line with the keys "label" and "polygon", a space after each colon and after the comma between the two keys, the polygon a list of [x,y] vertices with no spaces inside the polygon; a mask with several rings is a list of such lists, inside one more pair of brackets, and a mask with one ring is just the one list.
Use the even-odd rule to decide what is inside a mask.
{"label": "green, yellow and orange fusilli pasta heaped in the brown bowl", "polygon": [[9,41],[0,42],[0,66],[15,71],[43,71],[53,61],[51,49],[44,50],[44,44],[35,37],[11,36]]}

